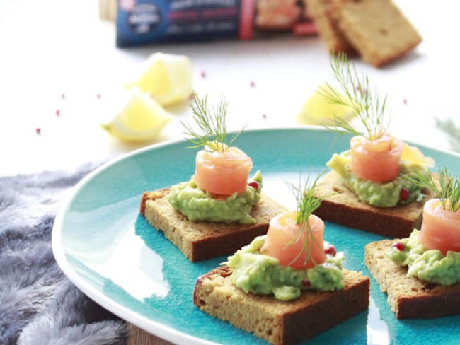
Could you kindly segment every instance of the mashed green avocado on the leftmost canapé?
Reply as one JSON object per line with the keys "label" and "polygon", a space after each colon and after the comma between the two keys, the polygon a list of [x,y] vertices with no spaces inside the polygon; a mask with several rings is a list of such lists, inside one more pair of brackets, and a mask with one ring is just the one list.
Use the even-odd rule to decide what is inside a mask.
{"label": "mashed green avocado on the leftmost canap\u00e9", "polygon": [[262,174],[256,172],[251,178],[258,182],[258,187],[246,187],[246,192],[234,193],[226,199],[214,199],[209,192],[197,187],[193,177],[188,182],[181,182],[171,187],[168,201],[173,209],[187,216],[190,221],[239,221],[255,223],[250,212],[260,199]]}

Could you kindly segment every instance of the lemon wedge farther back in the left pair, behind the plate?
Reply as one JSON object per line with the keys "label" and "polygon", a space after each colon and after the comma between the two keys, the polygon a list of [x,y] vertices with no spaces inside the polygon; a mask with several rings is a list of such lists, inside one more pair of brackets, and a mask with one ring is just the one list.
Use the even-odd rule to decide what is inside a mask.
{"label": "lemon wedge farther back in the left pair, behind the plate", "polygon": [[166,106],[190,98],[192,83],[192,63],[188,57],[157,52],[146,61],[137,81],[127,87],[138,86]]}

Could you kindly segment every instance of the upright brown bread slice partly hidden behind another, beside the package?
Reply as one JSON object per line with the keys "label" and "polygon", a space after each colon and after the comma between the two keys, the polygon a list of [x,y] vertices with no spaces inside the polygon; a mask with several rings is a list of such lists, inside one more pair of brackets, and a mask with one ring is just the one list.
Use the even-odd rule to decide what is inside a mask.
{"label": "upright brown bread slice partly hidden behind another, beside the package", "polygon": [[318,35],[326,43],[328,52],[337,54],[345,52],[355,54],[355,48],[352,47],[347,37],[338,27],[337,19],[334,16],[334,0],[304,0],[307,11],[313,18]]}

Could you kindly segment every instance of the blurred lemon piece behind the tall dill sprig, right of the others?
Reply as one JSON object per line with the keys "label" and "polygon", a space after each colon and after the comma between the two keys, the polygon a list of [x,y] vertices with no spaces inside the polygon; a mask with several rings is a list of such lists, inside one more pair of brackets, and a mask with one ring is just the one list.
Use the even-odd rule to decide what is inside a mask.
{"label": "blurred lemon piece behind the tall dill sprig, right of the others", "polygon": [[349,122],[356,113],[345,105],[331,104],[321,95],[321,89],[328,88],[323,85],[316,89],[313,95],[306,100],[304,107],[296,117],[299,124],[318,124],[322,126],[334,124],[334,117]]}

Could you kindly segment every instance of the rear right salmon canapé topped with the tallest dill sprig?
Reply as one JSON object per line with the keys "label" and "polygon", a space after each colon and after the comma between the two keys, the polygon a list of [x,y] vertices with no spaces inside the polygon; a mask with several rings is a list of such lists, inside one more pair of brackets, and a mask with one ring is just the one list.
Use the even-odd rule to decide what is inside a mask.
{"label": "rear right salmon canap\u00e9 topped with the tallest dill sprig", "polygon": [[340,92],[326,84],[323,96],[330,103],[352,108],[357,124],[337,117],[335,126],[329,127],[352,138],[349,149],[335,153],[326,163],[331,171],[318,187],[324,200],[316,214],[352,228],[406,236],[420,224],[423,203],[432,198],[408,177],[425,171],[434,161],[389,133],[386,96],[382,100],[367,76],[358,75],[344,54],[333,56],[331,67]]}

